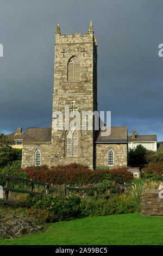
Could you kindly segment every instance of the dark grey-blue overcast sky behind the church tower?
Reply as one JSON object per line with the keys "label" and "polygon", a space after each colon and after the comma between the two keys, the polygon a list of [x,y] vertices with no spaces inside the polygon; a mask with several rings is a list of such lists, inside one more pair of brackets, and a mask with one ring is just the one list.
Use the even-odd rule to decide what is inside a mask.
{"label": "dark grey-blue overcast sky behind the church tower", "polygon": [[[162,0],[0,0],[0,133],[52,118],[55,30],[98,44],[98,110],[112,126],[163,141]],[[50,123],[40,125],[48,127]]]}

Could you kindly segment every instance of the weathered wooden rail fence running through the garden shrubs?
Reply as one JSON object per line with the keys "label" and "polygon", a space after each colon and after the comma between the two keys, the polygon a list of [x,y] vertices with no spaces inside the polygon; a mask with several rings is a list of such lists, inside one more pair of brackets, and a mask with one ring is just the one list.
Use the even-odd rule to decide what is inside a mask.
{"label": "weathered wooden rail fence running through the garden shrubs", "polygon": [[[89,198],[96,198],[96,197],[110,197],[110,196],[116,196],[117,194],[121,194],[124,192],[124,185],[117,184],[121,188],[121,193],[110,193],[110,188],[113,188],[115,186],[108,185],[108,186],[96,186],[96,187],[66,187],[65,185],[53,185],[53,184],[48,184],[48,183],[43,183],[40,181],[35,181],[35,180],[28,180],[28,179],[22,179],[18,178],[16,176],[10,176],[10,175],[3,175],[0,174],[0,178],[5,179],[5,187],[3,187],[4,193],[4,199],[0,199],[0,203],[4,204],[17,204],[17,205],[26,205],[30,206],[29,203],[27,202],[17,202],[17,201],[12,201],[9,200],[9,192],[16,192],[16,193],[23,193],[23,194],[29,194],[31,196],[46,196],[48,194],[53,194],[54,196],[59,196],[60,199],[64,199],[66,196],[67,191],[76,191],[76,192],[81,192],[81,191],[86,191],[86,190],[93,190],[94,196],[91,196]],[[29,190],[20,190],[20,189],[15,189],[10,186],[11,181],[21,181],[24,182],[25,184],[29,184]],[[37,188],[36,186],[37,185]],[[97,195],[97,190],[105,188],[106,189],[106,195]],[[35,191],[34,191],[35,190]],[[36,191],[37,190],[37,191]],[[40,190],[43,190],[43,192],[40,192]]]}

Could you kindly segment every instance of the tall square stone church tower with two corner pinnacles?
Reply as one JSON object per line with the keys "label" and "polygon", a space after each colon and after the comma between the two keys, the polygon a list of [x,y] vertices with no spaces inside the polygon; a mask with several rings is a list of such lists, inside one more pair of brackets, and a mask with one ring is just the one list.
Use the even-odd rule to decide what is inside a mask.
{"label": "tall square stone church tower with two corner pinnacles", "polygon": [[[80,130],[65,124],[65,107],[81,117]],[[56,130],[55,112],[63,114],[63,130]],[[92,22],[89,31],[61,34],[55,32],[54,94],[51,165],[67,163],[95,166],[95,131],[82,130],[82,111],[97,111],[97,44]],[[70,118],[70,121],[73,118]]]}

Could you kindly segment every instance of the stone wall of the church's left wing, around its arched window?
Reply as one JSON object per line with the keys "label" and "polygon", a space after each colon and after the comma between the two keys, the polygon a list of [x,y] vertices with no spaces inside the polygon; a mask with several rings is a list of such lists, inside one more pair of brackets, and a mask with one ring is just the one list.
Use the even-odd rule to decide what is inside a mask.
{"label": "stone wall of the church's left wing, around its arched window", "polygon": [[37,149],[39,149],[41,153],[40,165],[47,164],[49,167],[51,167],[51,144],[43,144],[43,142],[41,142],[39,144],[23,143],[22,168],[26,168],[27,166],[34,166],[35,151]]}

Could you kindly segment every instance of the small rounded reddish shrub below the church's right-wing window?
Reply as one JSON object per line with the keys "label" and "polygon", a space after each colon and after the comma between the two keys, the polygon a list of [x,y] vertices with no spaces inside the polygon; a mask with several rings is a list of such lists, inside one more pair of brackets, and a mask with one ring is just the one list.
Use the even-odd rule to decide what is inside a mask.
{"label": "small rounded reddish shrub below the church's right-wing window", "polygon": [[109,178],[117,183],[130,182],[133,180],[133,173],[127,170],[127,167],[117,167],[110,170]]}

